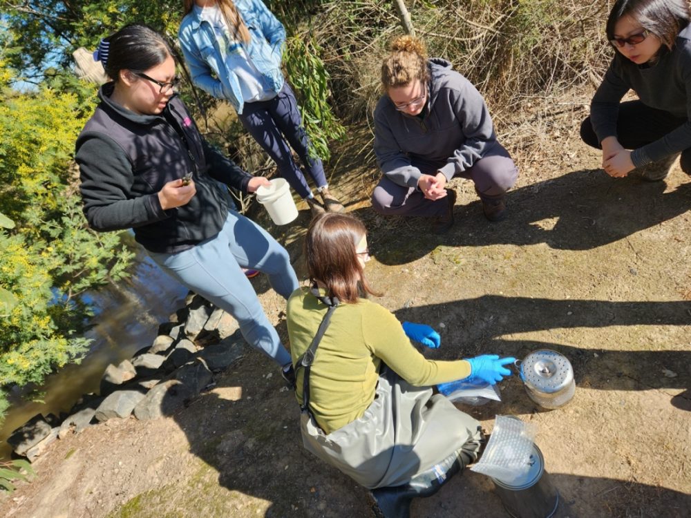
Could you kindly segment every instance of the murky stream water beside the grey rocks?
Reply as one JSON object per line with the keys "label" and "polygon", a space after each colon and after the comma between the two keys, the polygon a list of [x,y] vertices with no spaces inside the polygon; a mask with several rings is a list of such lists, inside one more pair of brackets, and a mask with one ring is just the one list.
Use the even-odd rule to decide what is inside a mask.
{"label": "murky stream water beside the grey rocks", "polygon": [[[158,325],[184,305],[187,289],[164,274],[142,249],[132,271],[130,278],[90,294],[97,311],[96,325],[86,334],[93,342],[82,363],[48,376],[41,387],[12,394],[12,406],[0,428],[0,460],[10,457],[12,448],[6,439],[14,430],[36,414],[68,412],[82,394],[97,393],[108,364],[130,359],[151,345]],[[29,388],[46,392],[44,403],[21,399]]]}

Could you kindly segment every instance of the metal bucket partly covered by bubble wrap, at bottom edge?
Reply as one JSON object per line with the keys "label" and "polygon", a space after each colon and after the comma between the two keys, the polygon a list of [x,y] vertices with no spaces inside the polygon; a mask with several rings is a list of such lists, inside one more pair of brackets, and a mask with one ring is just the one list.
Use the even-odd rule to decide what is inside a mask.
{"label": "metal bucket partly covered by bubble wrap, at bottom edge", "polygon": [[545,471],[545,459],[535,444],[527,474],[511,483],[490,478],[504,508],[513,518],[549,518],[557,510],[559,492],[549,479],[549,474]]}

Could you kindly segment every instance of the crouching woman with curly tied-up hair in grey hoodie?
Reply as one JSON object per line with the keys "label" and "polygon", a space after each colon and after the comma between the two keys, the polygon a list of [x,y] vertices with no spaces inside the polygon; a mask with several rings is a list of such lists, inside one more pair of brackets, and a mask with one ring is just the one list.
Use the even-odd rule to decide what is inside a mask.
{"label": "crouching woman with curly tied-up hair in grey hoodie", "polygon": [[518,178],[497,141],[482,95],[445,59],[427,59],[421,41],[401,36],[381,66],[386,93],[375,108],[375,155],[384,176],[372,193],[383,215],[435,218],[453,225],[452,178],[468,178],[490,221],[506,217],[504,194]]}

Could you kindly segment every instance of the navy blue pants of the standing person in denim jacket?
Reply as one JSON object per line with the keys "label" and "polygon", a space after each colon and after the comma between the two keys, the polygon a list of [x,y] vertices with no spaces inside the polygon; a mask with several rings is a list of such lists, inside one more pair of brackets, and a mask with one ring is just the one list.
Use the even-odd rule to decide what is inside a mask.
{"label": "navy blue pants of the standing person in denim jacket", "polygon": [[238,114],[238,119],[254,140],[269,154],[269,157],[276,162],[281,178],[285,178],[301,198],[307,198],[312,191],[307,185],[305,175],[293,160],[288,144],[300,157],[314,185],[319,188],[327,185],[321,160],[310,157],[309,141],[302,125],[298,103],[293,90],[287,83],[283,84],[283,88],[273,99],[246,102],[243,113]]}

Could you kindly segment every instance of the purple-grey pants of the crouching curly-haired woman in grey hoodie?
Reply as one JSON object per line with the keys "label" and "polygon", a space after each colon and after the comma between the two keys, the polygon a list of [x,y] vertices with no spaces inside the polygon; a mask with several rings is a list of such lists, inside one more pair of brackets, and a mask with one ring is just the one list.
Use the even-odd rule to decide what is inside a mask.
{"label": "purple-grey pants of the crouching curly-haired woman in grey hoodie", "polygon": [[[436,175],[437,169],[445,162],[415,163],[413,166],[424,175]],[[518,178],[518,168],[511,160],[509,151],[497,142],[491,150],[466,171],[454,175],[454,178],[473,180],[475,191],[482,200],[491,201],[502,198]],[[428,200],[417,188],[401,186],[383,176],[372,193],[372,207],[382,215],[406,215],[432,217],[444,215],[447,207],[446,198]]]}

